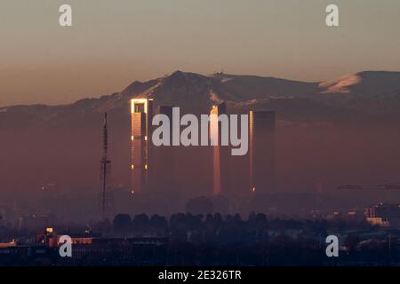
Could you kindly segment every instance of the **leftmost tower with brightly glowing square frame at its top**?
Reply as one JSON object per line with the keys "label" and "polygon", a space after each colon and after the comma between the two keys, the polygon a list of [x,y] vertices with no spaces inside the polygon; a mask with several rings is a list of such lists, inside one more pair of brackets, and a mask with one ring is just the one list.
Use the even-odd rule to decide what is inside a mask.
{"label": "leftmost tower with brightly glowing square frame at its top", "polygon": [[151,145],[153,99],[131,100],[131,191],[141,193],[148,187],[148,169],[152,166]]}

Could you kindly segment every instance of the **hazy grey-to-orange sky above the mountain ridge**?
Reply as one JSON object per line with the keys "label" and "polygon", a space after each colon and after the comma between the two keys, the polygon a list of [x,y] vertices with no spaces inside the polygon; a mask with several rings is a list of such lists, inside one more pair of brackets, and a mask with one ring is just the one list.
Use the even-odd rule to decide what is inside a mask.
{"label": "hazy grey-to-orange sky above the mountain ridge", "polygon": [[[59,26],[60,4],[73,27]],[[0,106],[98,97],[177,69],[322,81],[400,70],[400,1],[0,0],[0,36]]]}

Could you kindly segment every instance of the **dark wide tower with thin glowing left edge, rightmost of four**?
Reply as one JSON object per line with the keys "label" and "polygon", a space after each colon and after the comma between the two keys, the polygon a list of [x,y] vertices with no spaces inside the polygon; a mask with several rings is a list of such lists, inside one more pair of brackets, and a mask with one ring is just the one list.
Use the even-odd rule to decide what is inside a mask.
{"label": "dark wide tower with thin glowing left edge, rightmost of four", "polygon": [[251,191],[275,190],[275,113],[250,112]]}

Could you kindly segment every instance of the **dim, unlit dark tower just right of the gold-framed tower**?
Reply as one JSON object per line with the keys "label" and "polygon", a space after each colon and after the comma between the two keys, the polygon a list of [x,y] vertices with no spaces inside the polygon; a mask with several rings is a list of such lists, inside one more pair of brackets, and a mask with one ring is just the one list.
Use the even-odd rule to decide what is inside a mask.
{"label": "dim, unlit dark tower just right of the gold-framed tower", "polygon": [[[158,106],[156,114],[164,114],[172,122],[172,107]],[[170,125],[170,133],[172,133],[172,125]],[[172,136],[170,136],[170,145],[172,145]],[[176,189],[175,150],[174,146],[153,146],[152,155],[155,162],[149,174],[150,186],[154,192],[166,193]]]}

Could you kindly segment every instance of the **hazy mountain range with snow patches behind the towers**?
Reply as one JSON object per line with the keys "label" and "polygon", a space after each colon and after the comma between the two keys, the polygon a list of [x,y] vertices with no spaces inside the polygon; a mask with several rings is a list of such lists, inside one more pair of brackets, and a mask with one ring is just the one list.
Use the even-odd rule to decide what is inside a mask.
{"label": "hazy mountain range with snow patches behind the towers", "polygon": [[199,75],[176,71],[147,82],[134,81],[123,91],[98,99],[81,99],[60,106],[0,107],[0,130],[47,127],[82,122],[88,114],[127,114],[132,98],[155,99],[156,105],[180,106],[186,112],[207,113],[225,101],[228,110],[276,111],[284,120],[346,120],[400,114],[400,72],[366,71],[334,80],[304,83],[256,75]]}

